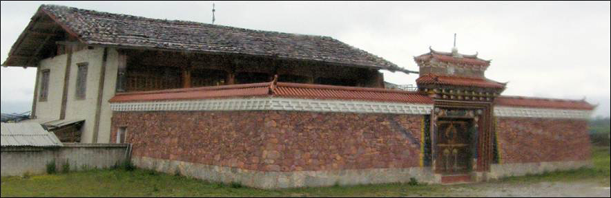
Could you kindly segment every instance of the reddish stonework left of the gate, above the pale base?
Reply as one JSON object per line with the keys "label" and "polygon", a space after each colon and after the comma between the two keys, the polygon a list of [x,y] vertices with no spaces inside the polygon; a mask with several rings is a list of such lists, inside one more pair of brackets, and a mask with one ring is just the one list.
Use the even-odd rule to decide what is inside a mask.
{"label": "reddish stonework left of the gate, above the pale base", "polygon": [[[247,170],[419,166],[423,115],[299,111],[115,112],[133,156]],[[114,140],[113,140],[114,141]]]}

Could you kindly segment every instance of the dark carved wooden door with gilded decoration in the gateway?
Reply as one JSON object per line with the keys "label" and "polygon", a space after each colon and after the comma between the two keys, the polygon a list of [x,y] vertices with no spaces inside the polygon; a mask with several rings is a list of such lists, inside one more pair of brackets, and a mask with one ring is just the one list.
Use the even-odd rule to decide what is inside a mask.
{"label": "dark carved wooden door with gilded decoration in the gateway", "polygon": [[443,120],[437,122],[437,127],[436,172],[445,175],[469,173],[472,169],[469,122]]}

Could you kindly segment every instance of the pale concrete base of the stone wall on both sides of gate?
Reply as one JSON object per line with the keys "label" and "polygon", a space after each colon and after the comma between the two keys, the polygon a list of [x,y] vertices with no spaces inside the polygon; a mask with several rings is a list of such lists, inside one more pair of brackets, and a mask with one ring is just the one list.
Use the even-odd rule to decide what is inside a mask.
{"label": "pale concrete base of the stone wall on both sides of gate", "polygon": [[[441,175],[434,174],[431,171],[431,167],[271,172],[210,166],[152,157],[134,156],[132,161],[139,168],[157,170],[162,173],[174,174],[180,172],[181,175],[197,179],[224,183],[237,182],[244,186],[264,189],[333,186],[335,184],[351,186],[358,184],[404,183],[409,182],[409,179],[412,177],[418,179],[418,182],[421,183],[442,183]],[[492,164],[490,172],[472,173],[472,181],[480,182],[501,177],[538,174],[554,170],[570,170],[588,166],[592,166],[590,161]]]}

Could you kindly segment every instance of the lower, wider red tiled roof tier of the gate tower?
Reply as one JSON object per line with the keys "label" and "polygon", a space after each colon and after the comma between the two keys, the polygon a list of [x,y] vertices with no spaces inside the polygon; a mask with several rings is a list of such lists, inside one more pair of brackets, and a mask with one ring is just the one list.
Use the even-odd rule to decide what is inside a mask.
{"label": "lower, wider red tiled roof tier of the gate tower", "polygon": [[505,84],[498,83],[487,78],[470,78],[462,76],[443,76],[435,74],[425,74],[416,79],[418,85],[456,85],[467,87],[487,87],[502,89]]}

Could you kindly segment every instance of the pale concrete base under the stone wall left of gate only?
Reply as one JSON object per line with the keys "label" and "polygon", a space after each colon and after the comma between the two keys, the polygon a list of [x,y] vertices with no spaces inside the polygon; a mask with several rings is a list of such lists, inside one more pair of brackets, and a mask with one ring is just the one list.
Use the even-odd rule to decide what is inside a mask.
{"label": "pale concrete base under the stone wall left of gate only", "polygon": [[430,167],[414,168],[370,168],[356,170],[321,170],[295,172],[269,172],[245,170],[224,166],[209,166],[190,162],[180,162],[151,157],[133,157],[133,163],[139,168],[157,170],[217,182],[238,182],[254,188],[300,188],[316,186],[342,186],[358,184],[385,184],[409,182],[411,177],[418,182],[438,184],[441,178],[431,172]]}

